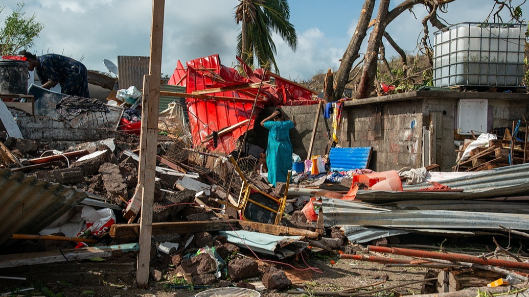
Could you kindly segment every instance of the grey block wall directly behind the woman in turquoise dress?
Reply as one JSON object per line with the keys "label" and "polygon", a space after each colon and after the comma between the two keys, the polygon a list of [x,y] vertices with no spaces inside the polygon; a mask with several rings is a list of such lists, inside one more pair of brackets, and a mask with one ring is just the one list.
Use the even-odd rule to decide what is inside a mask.
{"label": "grey block wall directly behind the woman in turquoise dress", "polygon": [[[295,117],[297,126],[290,129],[290,142],[295,154],[302,159],[306,159],[309,143],[311,142],[312,130],[314,127],[314,119],[316,117],[318,105],[302,105],[302,106],[282,106],[281,109],[285,114],[292,118]],[[259,114],[254,125],[254,144],[266,149],[268,142],[268,130],[261,127],[261,120],[273,113],[275,107],[267,107]],[[329,129],[332,127],[331,119],[323,118],[323,106],[318,121],[316,136],[314,138],[313,155],[322,155],[325,153],[327,142],[329,142]]]}

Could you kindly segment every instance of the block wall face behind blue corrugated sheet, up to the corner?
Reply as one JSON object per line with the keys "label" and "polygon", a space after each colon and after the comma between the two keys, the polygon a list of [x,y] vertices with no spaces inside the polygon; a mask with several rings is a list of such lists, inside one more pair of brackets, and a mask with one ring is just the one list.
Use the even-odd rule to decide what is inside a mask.
{"label": "block wall face behind blue corrugated sheet, up to the corner", "polygon": [[398,170],[420,164],[421,103],[405,101],[377,106],[381,110],[380,136],[375,136],[370,127],[375,105],[345,107],[339,146],[372,146],[369,168],[376,171]]}

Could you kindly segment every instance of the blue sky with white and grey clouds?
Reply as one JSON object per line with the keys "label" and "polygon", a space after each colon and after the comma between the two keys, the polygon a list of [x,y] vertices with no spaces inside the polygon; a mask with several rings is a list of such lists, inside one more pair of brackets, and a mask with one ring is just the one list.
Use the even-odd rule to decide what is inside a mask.
{"label": "blue sky with white and grey clouds", "polygon": [[[403,0],[393,0],[390,8]],[[6,6],[0,21],[17,0],[0,0]],[[25,11],[45,24],[31,49],[37,54],[54,52],[83,60],[88,69],[106,72],[103,59],[117,63],[117,55],[149,55],[150,0],[25,0]],[[520,3],[522,0],[513,0]],[[167,0],[162,49],[162,73],[172,73],[176,61],[220,54],[222,63],[235,61],[236,35],[233,7],[236,0]],[[306,80],[316,72],[338,69],[357,24],[361,0],[290,0],[290,22],[299,39],[296,52],[276,38],[276,60],[281,75]],[[458,0],[449,4],[443,18],[449,23],[483,21],[492,0]],[[376,15],[376,9],[373,17]],[[529,3],[523,6],[529,18]],[[417,6],[404,12],[387,31],[406,51],[413,52],[426,15]],[[431,32],[435,31],[431,29]],[[367,43],[367,41],[366,41]],[[363,45],[365,49],[366,44]],[[386,47],[387,55],[396,53]]]}

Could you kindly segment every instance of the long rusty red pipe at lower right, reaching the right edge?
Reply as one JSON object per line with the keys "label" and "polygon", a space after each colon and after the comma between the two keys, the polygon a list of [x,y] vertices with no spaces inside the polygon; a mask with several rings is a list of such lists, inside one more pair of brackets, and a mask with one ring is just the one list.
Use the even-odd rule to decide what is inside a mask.
{"label": "long rusty red pipe at lower right, reaching the right edge", "polygon": [[434,258],[434,259],[442,259],[442,260],[449,260],[449,261],[476,263],[476,264],[482,264],[482,265],[503,266],[503,267],[508,267],[508,268],[517,268],[517,269],[529,269],[529,263],[506,261],[506,260],[501,260],[501,259],[484,259],[484,258],[477,258],[477,257],[462,255],[462,254],[443,254],[439,252],[427,252],[426,250],[416,250],[416,249],[396,248],[396,247],[383,247],[383,246],[373,246],[373,245],[370,245],[367,248],[368,250],[372,252],[378,252],[378,253],[388,253],[388,254],[394,254],[394,255],[410,256],[410,257]]}

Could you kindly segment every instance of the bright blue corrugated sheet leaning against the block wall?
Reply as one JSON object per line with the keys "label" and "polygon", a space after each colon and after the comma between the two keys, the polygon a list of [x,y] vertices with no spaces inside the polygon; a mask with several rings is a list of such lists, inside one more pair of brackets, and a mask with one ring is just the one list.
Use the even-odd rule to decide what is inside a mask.
{"label": "bright blue corrugated sheet leaning against the block wall", "polygon": [[364,169],[369,165],[371,151],[368,147],[333,147],[329,153],[331,171]]}

